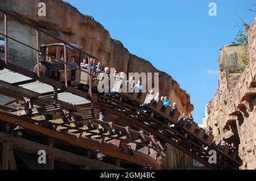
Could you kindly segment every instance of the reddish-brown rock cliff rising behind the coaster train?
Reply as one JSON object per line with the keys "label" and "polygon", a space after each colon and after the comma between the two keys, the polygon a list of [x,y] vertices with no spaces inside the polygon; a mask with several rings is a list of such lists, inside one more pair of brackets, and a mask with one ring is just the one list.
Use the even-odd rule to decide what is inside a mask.
{"label": "reddish-brown rock cliff rising behind the coaster train", "polygon": [[[38,3],[46,3],[46,16],[38,16]],[[86,6],[86,5],[85,5]],[[23,18],[43,30],[60,37],[69,43],[79,44],[89,54],[99,58],[103,65],[115,68],[125,73],[144,72],[159,73],[159,90],[161,95],[170,97],[171,102],[176,102],[181,112],[190,113],[193,105],[190,103],[190,96],[180,89],[179,84],[172,77],[162,71],[156,70],[147,60],[130,54],[120,41],[113,40],[109,32],[91,16],[82,15],[75,7],[60,0],[0,0],[0,7],[9,11],[19,18]],[[1,23],[3,23],[1,21]],[[0,23],[0,31],[3,31],[3,24]],[[35,31],[14,20],[9,22],[9,36],[35,47]],[[59,43],[48,36],[40,34],[40,44]],[[15,64],[31,68],[35,63],[35,52],[26,47],[16,47],[13,41],[9,41],[11,49],[9,53],[20,51],[19,55],[13,57]],[[27,60],[22,57],[24,53],[33,57]],[[187,155],[183,155],[183,159]],[[171,158],[169,162],[175,158]],[[176,159],[180,159],[176,157]],[[189,160],[191,160],[189,158]],[[169,163],[170,165],[171,163]],[[175,166],[175,165],[174,165]],[[176,165],[180,166],[180,165]],[[185,166],[185,165],[181,165]]]}

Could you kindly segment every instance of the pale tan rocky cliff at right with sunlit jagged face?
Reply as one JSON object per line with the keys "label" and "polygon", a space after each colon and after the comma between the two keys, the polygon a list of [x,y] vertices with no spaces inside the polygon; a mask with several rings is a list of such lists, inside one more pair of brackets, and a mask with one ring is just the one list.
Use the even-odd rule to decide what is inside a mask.
{"label": "pale tan rocky cliff at right with sunlit jagged face", "polygon": [[[249,47],[230,45],[221,49],[219,86],[207,107],[207,124],[213,128],[214,139],[220,141],[224,136],[229,143],[239,145],[241,169],[256,169],[255,20],[248,32]],[[241,73],[246,57],[250,62]]]}

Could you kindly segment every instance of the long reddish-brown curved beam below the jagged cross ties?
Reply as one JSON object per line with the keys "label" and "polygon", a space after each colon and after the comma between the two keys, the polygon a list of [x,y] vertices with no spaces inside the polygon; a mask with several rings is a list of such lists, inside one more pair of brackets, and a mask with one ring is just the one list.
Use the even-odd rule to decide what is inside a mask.
{"label": "long reddish-brown curved beam below the jagged cross ties", "polygon": [[[120,158],[125,161],[133,162],[141,166],[144,166],[144,164],[147,162],[147,163],[150,163],[150,165],[154,169],[160,169],[161,167],[160,163],[155,162],[153,159],[151,159],[151,157],[146,157],[144,159],[141,159],[143,155],[139,153],[139,151],[137,153],[137,156],[134,157],[133,155],[122,153],[121,148],[117,148],[113,144],[109,144],[106,142],[101,143],[97,140],[94,140],[92,138],[86,138],[86,137],[81,137],[80,139],[78,139],[77,137],[79,137],[79,134],[56,132],[51,129],[40,127],[39,125],[36,125],[36,124],[28,123],[28,120],[26,118],[15,116],[15,115],[12,115],[11,113],[0,111],[0,117],[2,120],[5,120],[6,122],[9,122],[11,124],[18,121],[19,124],[24,129],[33,130],[35,132],[44,134],[45,136],[56,138],[64,142],[68,142],[69,144],[79,146],[80,148],[85,148],[85,149],[98,148],[98,150],[101,150],[101,153],[105,155],[109,155],[110,157]],[[0,136],[0,139],[1,139],[1,136]],[[56,154],[55,154],[55,157],[56,157]]]}

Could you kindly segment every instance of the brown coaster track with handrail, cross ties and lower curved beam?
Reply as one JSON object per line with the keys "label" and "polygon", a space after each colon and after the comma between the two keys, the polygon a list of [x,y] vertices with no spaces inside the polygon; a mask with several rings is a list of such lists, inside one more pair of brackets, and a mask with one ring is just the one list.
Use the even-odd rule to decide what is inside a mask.
{"label": "brown coaster track with handrail, cross ties and lower curved beam", "polygon": [[[93,94],[92,74],[90,71],[87,72],[89,74],[89,92],[84,92],[69,86],[67,81],[67,57],[64,57],[66,65],[64,69],[64,83],[41,75],[39,73],[39,66],[37,73],[34,73],[11,63],[7,56],[8,39],[35,50],[37,55],[36,64],[38,65],[39,53],[42,53],[39,50],[39,32],[45,33],[57,41],[64,43],[64,50],[66,46],[71,46],[74,49],[76,49],[76,47],[50,35],[46,31],[40,30],[38,27],[32,26],[22,19],[16,18],[9,12],[1,9],[0,11],[4,14],[3,20],[5,25],[5,32],[0,33],[0,35],[5,37],[5,56],[0,60],[0,70],[10,70],[11,74],[18,73],[28,78],[24,81],[14,83],[0,80],[0,94],[24,102],[24,110],[16,110],[6,105],[1,105],[0,109],[5,110],[0,111],[1,120],[7,123],[15,123],[18,121],[25,129],[63,140],[81,148],[98,148],[102,153],[110,157],[123,159],[141,166],[149,164],[154,169],[160,169],[163,158],[166,157],[163,148],[163,144],[165,143],[171,144],[175,148],[183,151],[185,154],[208,167],[208,169],[237,169],[236,166],[230,165],[220,158],[217,158],[217,163],[209,163],[209,152],[207,149],[195,144],[189,140],[189,138],[183,136],[183,134],[180,134],[172,127],[169,127],[167,124],[153,117],[144,115],[143,118],[143,116],[141,116],[143,112],[139,112],[138,108],[127,108],[123,103],[113,104],[113,98],[100,93]],[[7,16],[35,28],[36,48],[23,44],[7,35]],[[80,49],[77,50],[85,53],[88,58],[95,58]],[[37,81],[52,86],[53,90],[39,94],[38,92],[21,87],[21,85]],[[80,98],[90,100],[90,103],[82,104],[82,107],[78,107],[63,102],[58,99],[58,95],[61,92],[68,92]],[[98,115],[94,112],[95,109],[113,113],[122,118],[122,120],[127,121],[127,123],[133,123],[140,130],[122,127],[112,122],[100,121],[98,120]],[[36,116],[46,115],[49,112],[60,112],[62,117],[48,119],[43,116],[42,120],[35,119]],[[80,124],[81,122],[82,124]],[[150,134],[145,134],[145,132],[149,132]]]}

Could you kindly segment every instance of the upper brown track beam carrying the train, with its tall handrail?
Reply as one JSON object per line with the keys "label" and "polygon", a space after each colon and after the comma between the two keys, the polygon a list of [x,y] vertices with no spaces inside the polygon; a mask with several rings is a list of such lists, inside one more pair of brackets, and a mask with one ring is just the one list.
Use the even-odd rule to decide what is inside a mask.
{"label": "upper brown track beam carrying the train, with its tall handrail", "polygon": [[[90,70],[90,62],[89,62],[89,71],[85,71],[85,73],[88,73],[88,75],[89,75],[88,94],[84,91],[77,90],[74,87],[69,86],[68,78],[67,78],[68,77],[67,66],[69,64],[67,62],[67,57],[66,57],[66,53],[65,53],[65,51],[67,49],[67,45],[78,50],[81,53],[86,54],[88,56],[88,60],[90,58],[94,58],[95,60],[98,60],[98,59],[96,57],[91,56],[90,54],[84,52],[83,50],[77,49],[75,46],[51,35],[50,33],[31,25],[30,23],[27,23],[26,21],[24,21],[22,19],[16,18],[16,16],[10,14],[9,12],[6,12],[5,10],[0,9],[0,11],[3,12],[3,14],[4,14],[4,24],[5,24],[5,33],[0,33],[2,36],[5,37],[5,58],[4,58],[4,60],[0,61],[0,65],[2,68],[6,68],[9,70],[15,71],[17,73],[26,75],[27,77],[38,80],[40,82],[47,83],[48,85],[55,87],[55,90],[63,89],[65,91],[71,92],[72,94],[79,95],[86,99],[89,99],[92,102],[93,107],[95,106],[96,108],[101,108],[103,110],[107,110],[109,112],[114,113],[115,115],[118,115],[119,117],[122,117],[125,120],[131,121],[132,123],[136,124],[139,128],[142,128],[145,131],[150,132],[155,137],[160,138],[163,142],[167,142],[167,143],[173,145],[175,148],[183,151],[185,154],[188,154],[192,158],[203,163],[209,169],[220,169],[220,168],[226,168],[226,167],[230,168],[230,169],[236,168],[232,165],[229,165],[225,161],[222,161],[219,158],[218,158],[218,161],[220,164],[210,164],[208,162],[208,157],[209,157],[208,150],[201,148],[201,146],[195,144],[195,142],[192,142],[187,137],[184,137],[180,132],[171,128],[167,123],[163,123],[162,121],[159,121],[154,116],[149,116],[147,114],[143,114],[143,112],[141,112],[141,115],[144,115],[145,119],[143,119],[143,117],[141,117],[141,115],[138,116],[138,113],[137,113],[138,108],[137,107],[125,105],[122,102],[118,102],[114,98],[110,98],[109,96],[104,96],[101,94],[93,94],[93,91],[92,91],[93,73]],[[7,35],[7,16],[11,16],[15,20],[18,20],[21,23],[24,23],[32,28],[35,28],[35,30],[36,30],[36,49],[18,41],[18,40],[15,40],[12,37]],[[57,81],[55,81],[51,78],[48,78],[44,75],[40,75],[39,53],[46,54],[47,56],[51,56],[51,55],[39,50],[39,32],[45,33],[46,35],[51,36],[54,39],[64,43],[64,62],[62,60],[57,59],[57,57],[54,57],[56,60],[62,61],[65,65],[65,68],[64,68],[65,81],[64,81],[64,83],[57,82]],[[34,73],[32,71],[28,71],[24,68],[20,68],[19,66],[16,66],[16,65],[8,62],[8,60],[7,60],[8,39],[14,40],[19,44],[25,45],[28,48],[36,50],[36,64],[38,65],[38,69],[37,69],[36,73]],[[84,71],[84,70],[82,70],[82,71]],[[105,100],[109,100],[109,101],[105,102]],[[112,104],[113,102],[115,102],[115,104]],[[129,107],[129,108],[127,109],[126,107]],[[175,118],[175,119],[177,119],[177,118]],[[150,124],[150,123],[148,124],[146,120],[150,120],[154,124]],[[175,124],[175,121],[177,121],[177,120],[172,120],[172,121],[174,122],[173,124]],[[76,129],[78,132],[79,131],[81,132],[81,129],[78,127],[68,127],[66,125],[66,128]],[[125,137],[125,139],[127,139],[127,137]],[[193,149],[191,149],[191,148],[193,148]],[[163,150],[161,150],[161,151],[163,151]],[[222,164],[222,163],[225,163],[225,164]],[[223,167],[223,165],[225,165],[225,167]]]}

